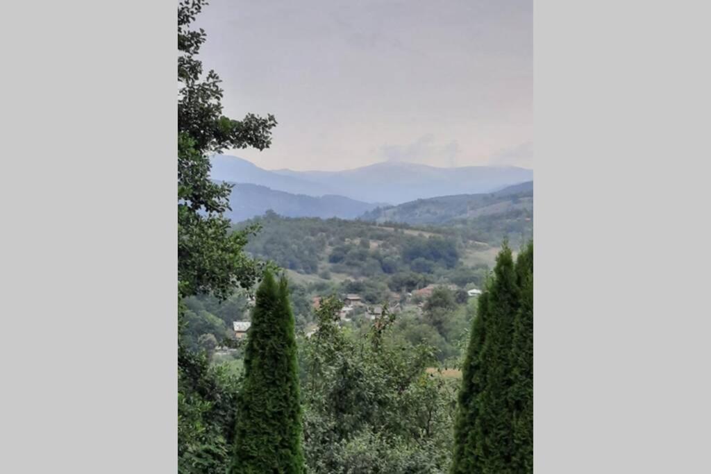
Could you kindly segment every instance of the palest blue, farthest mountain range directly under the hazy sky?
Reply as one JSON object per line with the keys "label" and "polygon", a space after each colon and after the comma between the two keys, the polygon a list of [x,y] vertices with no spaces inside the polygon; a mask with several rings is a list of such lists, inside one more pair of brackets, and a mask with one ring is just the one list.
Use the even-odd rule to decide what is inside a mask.
{"label": "palest blue, farthest mountain range directly under the hazy sky", "polygon": [[388,161],[346,171],[270,171],[236,156],[216,155],[211,161],[211,175],[217,181],[262,185],[313,197],[341,195],[362,203],[390,205],[442,195],[491,193],[533,180],[533,170],[514,166],[437,168]]}

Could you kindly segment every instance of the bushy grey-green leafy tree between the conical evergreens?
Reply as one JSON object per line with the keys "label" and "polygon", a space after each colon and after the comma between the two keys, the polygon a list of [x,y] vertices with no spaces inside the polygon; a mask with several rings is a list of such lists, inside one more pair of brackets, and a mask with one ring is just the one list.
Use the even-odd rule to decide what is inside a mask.
{"label": "bushy grey-green leafy tree between the conical evergreens", "polygon": [[392,313],[353,333],[337,298],[302,346],[305,450],[312,473],[444,473],[456,387],[425,371],[434,349],[395,336]]}

